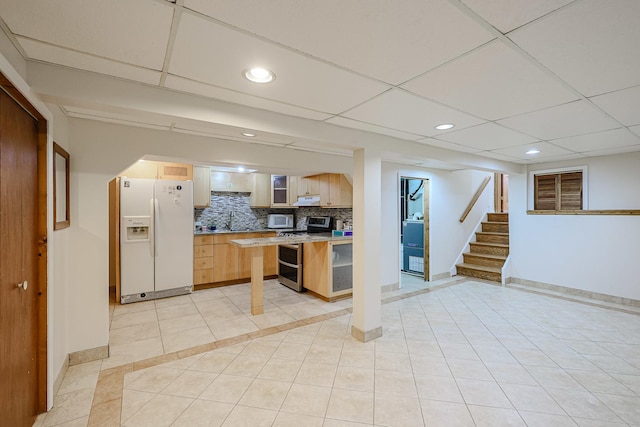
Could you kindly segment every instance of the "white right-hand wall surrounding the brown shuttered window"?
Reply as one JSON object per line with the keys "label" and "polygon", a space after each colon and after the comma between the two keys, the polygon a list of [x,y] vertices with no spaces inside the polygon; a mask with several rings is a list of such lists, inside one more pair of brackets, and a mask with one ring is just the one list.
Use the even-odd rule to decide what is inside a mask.
{"label": "white right-hand wall surrounding the brown shuttered window", "polygon": [[[640,153],[530,166],[587,166],[589,209],[640,209]],[[640,217],[527,215],[527,175],[509,177],[511,275],[640,300]]]}

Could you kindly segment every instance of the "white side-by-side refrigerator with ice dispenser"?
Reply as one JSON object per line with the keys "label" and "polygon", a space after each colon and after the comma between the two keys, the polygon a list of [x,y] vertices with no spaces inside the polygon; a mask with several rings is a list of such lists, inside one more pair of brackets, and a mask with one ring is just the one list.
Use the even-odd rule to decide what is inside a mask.
{"label": "white side-by-side refrigerator with ice dispenser", "polygon": [[193,182],[120,179],[120,302],[193,290]]}

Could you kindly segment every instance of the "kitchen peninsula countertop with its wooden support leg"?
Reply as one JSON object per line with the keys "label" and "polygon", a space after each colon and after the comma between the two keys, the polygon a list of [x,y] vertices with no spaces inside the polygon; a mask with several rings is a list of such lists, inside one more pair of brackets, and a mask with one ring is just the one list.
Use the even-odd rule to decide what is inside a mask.
{"label": "kitchen peninsula countertop with its wooden support leg", "polygon": [[[265,247],[292,244],[326,244],[327,242],[347,244],[351,242],[351,239],[351,236],[293,235],[231,240],[231,244],[248,249],[251,253],[251,314],[264,313],[263,264]],[[328,266],[325,265],[325,268],[328,268]]]}

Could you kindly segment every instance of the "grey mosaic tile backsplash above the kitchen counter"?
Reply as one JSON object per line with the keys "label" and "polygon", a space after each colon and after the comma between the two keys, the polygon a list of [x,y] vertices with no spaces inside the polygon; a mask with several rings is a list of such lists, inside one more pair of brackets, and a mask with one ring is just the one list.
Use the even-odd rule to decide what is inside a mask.
{"label": "grey mosaic tile backsplash above the kitchen counter", "polygon": [[306,228],[309,216],[332,216],[345,224],[351,224],[353,220],[350,208],[304,206],[292,209],[255,209],[249,206],[249,195],[250,193],[212,191],[211,206],[194,209],[196,225],[215,226],[218,230],[230,230],[232,227],[233,230],[258,230],[267,227],[267,215],[270,213],[294,214],[296,228]]}

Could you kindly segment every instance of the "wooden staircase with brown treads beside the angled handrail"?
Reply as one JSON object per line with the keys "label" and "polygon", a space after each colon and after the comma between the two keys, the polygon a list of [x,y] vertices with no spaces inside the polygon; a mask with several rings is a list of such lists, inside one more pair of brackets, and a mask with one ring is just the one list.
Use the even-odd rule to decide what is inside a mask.
{"label": "wooden staircase with brown treads beside the angled handrail", "polygon": [[502,266],[509,255],[509,214],[490,213],[469,245],[471,252],[456,265],[458,275],[502,282]]}

